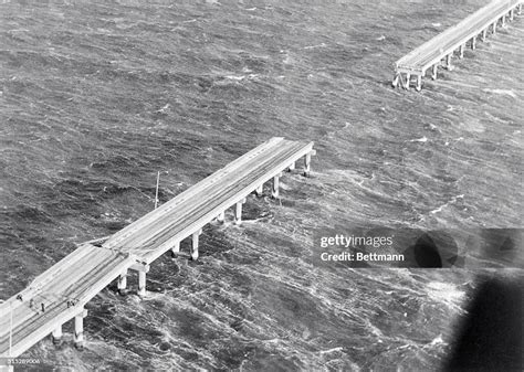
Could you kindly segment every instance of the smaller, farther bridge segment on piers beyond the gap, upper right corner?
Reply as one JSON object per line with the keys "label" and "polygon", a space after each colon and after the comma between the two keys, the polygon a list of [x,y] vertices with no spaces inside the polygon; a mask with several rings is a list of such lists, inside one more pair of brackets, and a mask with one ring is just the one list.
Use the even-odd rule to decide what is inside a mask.
{"label": "smaller, farther bridge segment on piers beyond the gap, upper right corner", "polygon": [[464,49],[469,43],[471,49],[476,47],[476,39],[485,41],[491,30],[496,33],[496,26],[505,26],[506,19],[513,21],[515,11],[522,14],[522,0],[494,0],[461,22],[443,31],[430,41],[396,62],[392,86],[409,89],[412,77],[416,78],[416,89],[421,91],[422,77],[431,68],[432,79],[437,79],[438,66],[446,60],[444,67],[452,70],[452,56],[458,51],[459,57],[464,56]]}

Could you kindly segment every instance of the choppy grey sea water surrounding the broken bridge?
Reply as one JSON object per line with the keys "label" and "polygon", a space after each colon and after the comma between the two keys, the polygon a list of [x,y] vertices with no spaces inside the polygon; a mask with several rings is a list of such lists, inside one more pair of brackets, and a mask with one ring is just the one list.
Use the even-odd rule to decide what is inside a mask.
{"label": "choppy grey sea water surrounding the broken bridge", "polygon": [[[422,92],[395,61],[486,1],[2,1],[0,299],[282,136],[312,177],[106,288],[49,368],[438,370],[479,272],[322,263],[326,231],[522,227],[522,18]],[[182,244],[188,251],[188,244]],[[506,275],[522,277],[518,269]],[[129,285],[136,285],[130,278]],[[40,366],[42,368],[42,365]]]}

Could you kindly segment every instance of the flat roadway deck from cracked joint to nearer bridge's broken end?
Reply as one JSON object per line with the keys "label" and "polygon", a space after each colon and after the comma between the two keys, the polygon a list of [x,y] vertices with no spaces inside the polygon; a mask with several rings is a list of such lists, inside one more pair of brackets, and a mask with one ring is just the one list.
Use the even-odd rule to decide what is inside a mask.
{"label": "flat roadway deck from cracked joint to nearer bridge's broken end", "polygon": [[123,228],[103,246],[130,252],[149,264],[310,153],[312,147],[313,142],[273,138]]}

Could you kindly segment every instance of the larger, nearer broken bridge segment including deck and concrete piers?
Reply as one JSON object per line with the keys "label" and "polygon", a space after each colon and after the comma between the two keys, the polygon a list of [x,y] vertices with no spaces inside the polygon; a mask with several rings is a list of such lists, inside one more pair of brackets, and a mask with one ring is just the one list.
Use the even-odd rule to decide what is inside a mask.
{"label": "larger, nearer broken bridge segment including deck and concrete piers", "polygon": [[271,180],[271,194],[280,198],[280,178],[295,170],[297,160],[304,158],[304,174],[310,174],[313,145],[272,138],[116,234],[80,245],[0,304],[0,355],[17,358],[50,333],[61,342],[62,326],[72,319],[74,344],[82,349],[84,307],[93,297],[113,280],[125,293],[129,270],[138,272],[137,291],[144,296],[150,264],[169,251],[178,254],[187,237],[191,258],[198,259],[202,227],[223,222],[231,206],[234,223],[241,224],[248,195],[262,195]]}

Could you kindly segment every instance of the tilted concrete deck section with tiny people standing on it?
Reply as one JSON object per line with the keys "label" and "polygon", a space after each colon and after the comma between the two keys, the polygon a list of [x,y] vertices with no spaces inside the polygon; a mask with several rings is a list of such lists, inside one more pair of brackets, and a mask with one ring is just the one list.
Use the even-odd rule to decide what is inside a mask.
{"label": "tilted concrete deck section with tiny people standing on it", "polygon": [[[0,304],[0,355],[20,355],[57,325],[83,317],[84,305],[134,263],[122,253],[81,245],[28,288]],[[76,340],[81,342],[82,334]]]}

